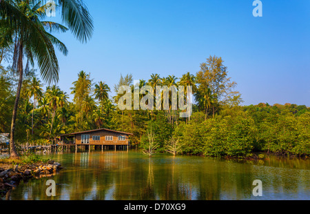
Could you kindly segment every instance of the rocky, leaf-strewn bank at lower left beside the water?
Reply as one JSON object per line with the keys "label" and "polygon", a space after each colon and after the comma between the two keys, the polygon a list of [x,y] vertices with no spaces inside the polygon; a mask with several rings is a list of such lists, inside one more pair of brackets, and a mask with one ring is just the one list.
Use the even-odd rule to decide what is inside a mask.
{"label": "rocky, leaf-strewn bank at lower left beside the water", "polygon": [[30,159],[0,159],[0,200],[22,180],[27,182],[32,178],[52,177],[62,169],[61,164],[53,160],[31,162],[33,157],[37,156],[30,155]]}

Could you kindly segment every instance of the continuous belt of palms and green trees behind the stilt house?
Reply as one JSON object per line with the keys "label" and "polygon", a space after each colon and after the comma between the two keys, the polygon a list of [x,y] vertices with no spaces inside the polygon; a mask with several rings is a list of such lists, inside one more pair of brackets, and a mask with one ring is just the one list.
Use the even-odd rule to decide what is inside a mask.
{"label": "continuous belt of palms and green trees behind the stilt house", "polygon": [[[21,87],[15,136],[18,144],[41,144],[64,133],[110,128],[134,133],[132,146],[154,153],[169,152],[205,156],[249,157],[254,152],[309,155],[310,109],[295,104],[241,106],[236,83],[227,76],[220,57],[209,57],[196,75],[182,77],[152,74],[139,86],[192,86],[192,117],[180,118],[180,110],[119,110],[119,86],[134,90],[132,75],[122,76],[114,85],[116,96],[104,81],[79,72],[68,93],[59,86],[47,86],[30,70]],[[10,132],[10,120],[18,77],[1,68],[0,131]],[[155,93],[156,94],[156,93]],[[143,95],[141,95],[143,96]],[[171,98],[171,97],[170,97]],[[169,100],[171,106],[171,99]],[[155,104],[154,104],[155,105]],[[149,144],[156,146],[150,148]]]}

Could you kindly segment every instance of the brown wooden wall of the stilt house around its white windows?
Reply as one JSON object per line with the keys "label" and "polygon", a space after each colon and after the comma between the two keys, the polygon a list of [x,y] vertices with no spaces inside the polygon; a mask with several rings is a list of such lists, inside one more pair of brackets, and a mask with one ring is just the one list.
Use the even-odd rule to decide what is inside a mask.
{"label": "brown wooden wall of the stilt house around its white windows", "polygon": [[[114,133],[112,131],[107,131],[107,130],[99,130],[99,131],[95,131],[95,132],[75,135],[74,142],[76,143],[76,145],[85,145],[85,144],[81,143],[82,135],[90,135],[90,145],[106,145],[106,146],[108,146],[108,145],[109,146],[113,146],[113,145],[127,146],[127,145],[129,145],[128,135],[124,135],[121,133]],[[100,141],[93,140],[92,136],[100,136]],[[113,141],[105,141],[105,136],[112,136]],[[118,141],[118,136],[125,136],[125,141]]]}

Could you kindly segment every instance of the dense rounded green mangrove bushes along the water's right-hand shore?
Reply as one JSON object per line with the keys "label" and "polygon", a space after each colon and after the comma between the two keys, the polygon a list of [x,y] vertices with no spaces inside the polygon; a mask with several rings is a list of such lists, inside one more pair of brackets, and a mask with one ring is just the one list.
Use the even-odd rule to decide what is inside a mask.
{"label": "dense rounded green mangrove bushes along the water's right-hand shore", "polygon": [[[248,157],[255,151],[282,155],[310,154],[310,112],[298,106],[245,106],[223,108],[215,119],[203,113],[174,128],[183,153]],[[294,113],[292,113],[294,112]]]}

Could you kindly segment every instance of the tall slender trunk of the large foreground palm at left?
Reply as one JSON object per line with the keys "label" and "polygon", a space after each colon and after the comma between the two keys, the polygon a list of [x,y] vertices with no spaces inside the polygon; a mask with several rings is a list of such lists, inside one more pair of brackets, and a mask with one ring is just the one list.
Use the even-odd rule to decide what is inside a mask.
{"label": "tall slender trunk of the large foreground palm at left", "polygon": [[17,117],[17,108],[19,106],[19,97],[21,95],[21,86],[23,84],[23,45],[20,44],[19,46],[19,61],[18,61],[18,70],[19,70],[19,84],[17,86],[17,94],[14,103],[14,109],[12,114],[12,124],[11,124],[11,131],[10,131],[10,157],[19,157],[15,148],[14,142],[14,132],[15,132],[15,124],[16,124],[16,117]]}

